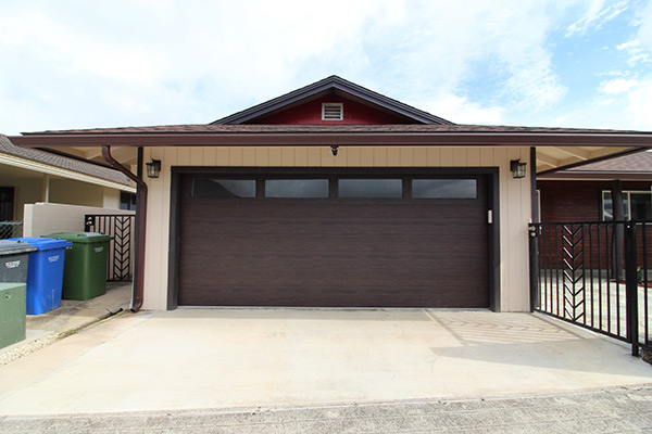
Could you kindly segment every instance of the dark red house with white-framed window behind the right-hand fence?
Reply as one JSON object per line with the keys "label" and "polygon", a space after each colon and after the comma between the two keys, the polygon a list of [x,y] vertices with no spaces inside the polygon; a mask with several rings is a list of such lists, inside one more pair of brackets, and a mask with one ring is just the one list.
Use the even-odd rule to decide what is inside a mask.
{"label": "dark red house with white-framed window behind the right-hand fence", "polygon": [[541,221],[612,220],[613,180],[620,180],[625,219],[652,220],[652,152],[644,151],[539,174]]}

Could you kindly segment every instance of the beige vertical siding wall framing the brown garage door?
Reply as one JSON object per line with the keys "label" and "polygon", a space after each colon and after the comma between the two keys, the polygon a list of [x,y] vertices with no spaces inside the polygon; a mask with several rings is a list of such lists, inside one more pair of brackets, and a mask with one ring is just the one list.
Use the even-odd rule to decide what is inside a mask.
{"label": "beige vertical siding wall framing the brown garage door", "polygon": [[[146,309],[165,309],[172,166],[261,167],[498,167],[500,171],[501,306],[503,311],[529,310],[527,222],[530,181],[512,179],[510,161],[529,164],[529,148],[342,146],[334,157],[315,148],[150,148],[146,161],[161,159],[158,179],[149,183],[146,243]],[[529,165],[528,165],[529,167]]]}

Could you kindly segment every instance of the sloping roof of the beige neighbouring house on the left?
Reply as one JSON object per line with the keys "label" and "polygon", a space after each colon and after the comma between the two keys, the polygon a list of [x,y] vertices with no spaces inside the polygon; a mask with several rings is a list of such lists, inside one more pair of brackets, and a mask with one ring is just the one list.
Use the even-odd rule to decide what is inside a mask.
{"label": "sloping roof of the beige neighbouring house on the left", "polygon": [[18,148],[3,135],[0,135],[0,164],[10,164],[124,191],[134,190],[129,178],[117,170],[37,149]]}

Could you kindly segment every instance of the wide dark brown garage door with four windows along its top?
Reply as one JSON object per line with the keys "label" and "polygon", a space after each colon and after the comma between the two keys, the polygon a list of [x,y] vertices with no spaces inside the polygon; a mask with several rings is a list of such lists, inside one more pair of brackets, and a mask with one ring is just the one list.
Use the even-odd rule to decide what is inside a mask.
{"label": "wide dark brown garage door with four windows along its top", "polygon": [[178,304],[488,307],[477,177],[184,175]]}

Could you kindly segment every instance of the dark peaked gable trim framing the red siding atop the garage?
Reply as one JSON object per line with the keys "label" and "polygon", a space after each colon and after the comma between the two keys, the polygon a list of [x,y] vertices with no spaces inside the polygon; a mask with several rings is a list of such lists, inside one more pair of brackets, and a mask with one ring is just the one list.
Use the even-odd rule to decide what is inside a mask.
{"label": "dark peaked gable trim framing the red siding atop the garage", "polygon": [[319,81],[313,82],[312,85],[304,86],[300,89],[293,90],[284,95],[254,105],[250,108],[223,117],[222,119],[217,119],[211,123],[211,125],[244,124],[254,120],[259,117],[268,115],[273,112],[286,108],[300,101],[310,100],[312,98],[318,97],[319,94],[328,92],[338,92],[343,95],[349,95],[354,99],[362,100],[363,102],[390,111],[394,114],[406,117],[415,123],[453,125],[453,123],[450,120],[431,115],[430,113],[424,112],[411,105],[404,104],[400,101],[385,97],[367,88],[363,88],[362,86],[344,80],[343,78],[338,77],[337,75],[331,75],[330,77],[326,77]]}

